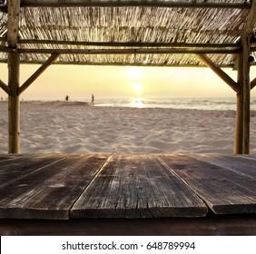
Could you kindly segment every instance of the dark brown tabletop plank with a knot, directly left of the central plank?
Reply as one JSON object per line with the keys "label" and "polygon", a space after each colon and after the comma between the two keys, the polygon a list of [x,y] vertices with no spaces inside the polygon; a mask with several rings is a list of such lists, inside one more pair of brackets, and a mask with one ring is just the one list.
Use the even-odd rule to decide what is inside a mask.
{"label": "dark brown tabletop plank with a knot, directly left of the central plank", "polygon": [[67,220],[69,210],[109,154],[67,155],[0,191],[0,218]]}

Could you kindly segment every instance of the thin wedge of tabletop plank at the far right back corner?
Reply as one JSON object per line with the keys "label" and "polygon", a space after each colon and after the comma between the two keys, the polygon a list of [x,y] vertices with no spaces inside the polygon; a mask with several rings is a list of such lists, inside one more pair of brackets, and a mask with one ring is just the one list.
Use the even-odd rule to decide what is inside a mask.
{"label": "thin wedge of tabletop plank at the far right back corner", "polygon": [[189,154],[189,156],[256,179],[256,157],[253,159],[250,157],[199,153]]}

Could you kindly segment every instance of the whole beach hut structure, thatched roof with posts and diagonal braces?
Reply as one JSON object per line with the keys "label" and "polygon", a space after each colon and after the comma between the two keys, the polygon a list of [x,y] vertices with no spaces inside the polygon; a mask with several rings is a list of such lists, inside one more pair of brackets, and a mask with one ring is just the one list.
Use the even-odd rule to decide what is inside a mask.
{"label": "whole beach hut structure, thatched roof with posts and diagonal braces", "polygon": [[[0,0],[8,152],[20,151],[19,96],[48,66],[108,64],[210,67],[237,96],[234,153],[249,153],[255,52],[256,0]],[[42,66],[20,85],[20,64]]]}

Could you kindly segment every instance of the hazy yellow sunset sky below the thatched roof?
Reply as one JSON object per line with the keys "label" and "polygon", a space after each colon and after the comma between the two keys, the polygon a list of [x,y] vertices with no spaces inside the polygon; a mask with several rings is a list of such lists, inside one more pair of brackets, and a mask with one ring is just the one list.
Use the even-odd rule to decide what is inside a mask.
{"label": "hazy yellow sunset sky below the thatched roof", "polygon": [[[20,84],[40,65],[21,64]],[[225,68],[237,80],[237,72]],[[251,80],[256,67],[251,67]],[[7,83],[7,64],[0,64],[0,79]],[[21,94],[23,100],[91,100],[97,98],[232,97],[235,92],[207,67],[131,67],[51,65]],[[256,88],[251,91],[256,96]],[[6,93],[0,89],[0,98]]]}

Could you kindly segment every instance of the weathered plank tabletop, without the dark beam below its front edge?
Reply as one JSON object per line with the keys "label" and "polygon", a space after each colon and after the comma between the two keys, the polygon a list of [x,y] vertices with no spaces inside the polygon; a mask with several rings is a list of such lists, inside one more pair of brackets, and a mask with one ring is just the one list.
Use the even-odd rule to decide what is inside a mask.
{"label": "weathered plank tabletop, without the dark beam below its front edge", "polygon": [[0,155],[0,219],[191,218],[205,216],[207,206],[244,216],[256,211],[255,161],[220,154]]}

